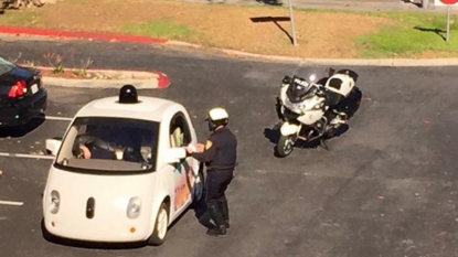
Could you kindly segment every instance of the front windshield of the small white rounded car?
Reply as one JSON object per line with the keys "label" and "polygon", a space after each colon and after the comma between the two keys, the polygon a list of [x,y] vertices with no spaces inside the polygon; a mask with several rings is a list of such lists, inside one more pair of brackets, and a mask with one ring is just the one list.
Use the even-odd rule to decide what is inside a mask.
{"label": "front windshield of the small white rounded car", "polygon": [[62,141],[56,165],[68,171],[152,171],[156,167],[159,124],[148,120],[76,118]]}

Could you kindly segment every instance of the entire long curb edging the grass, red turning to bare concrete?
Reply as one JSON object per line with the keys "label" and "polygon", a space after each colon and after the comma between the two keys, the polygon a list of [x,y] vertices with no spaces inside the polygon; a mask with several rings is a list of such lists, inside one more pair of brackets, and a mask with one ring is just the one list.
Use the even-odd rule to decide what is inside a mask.
{"label": "entire long curb edging the grass, red turning to bare concrete", "polygon": [[295,63],[306,65],[345,65],[345,66],[404,66],[404,67],[430,67],[430,66],[458,66],[458,58],[300,58],[290,56],[263,55],[248,53],[237,50],[206,47],[198,44],[182,41],[172,41],[151,36],[137,36],[128,34],[113,34],[98,32],[71,32],[46,29],[20,28],[20,26],[0,26],[0,34],[21,34],[47,36],[47,38],[66,38],[66,39],[87,39],[100,41],[124,41],[137,43],[152,43],[180,47],[210,49],[230,57],[242,57],[267,62]]}

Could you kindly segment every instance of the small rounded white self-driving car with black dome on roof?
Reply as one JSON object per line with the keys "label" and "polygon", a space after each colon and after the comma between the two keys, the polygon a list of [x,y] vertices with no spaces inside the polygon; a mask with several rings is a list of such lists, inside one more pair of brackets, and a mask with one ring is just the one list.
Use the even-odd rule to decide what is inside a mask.
{"label": "small rounded white self-driving car with black dome on roof", "polygon": [[134,86],[87,104],[62,139],[46,140],[55,159],[43,194],[44,233],[161,245],[168,226],[202,196],[200,163],[183,148],[196,142],[182,105],[137,96]]}

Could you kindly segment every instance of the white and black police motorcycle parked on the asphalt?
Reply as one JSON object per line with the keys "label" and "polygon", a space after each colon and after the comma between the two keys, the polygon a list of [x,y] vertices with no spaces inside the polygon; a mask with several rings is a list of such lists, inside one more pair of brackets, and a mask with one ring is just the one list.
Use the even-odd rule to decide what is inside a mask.
{"label": "white and black police motorcycle parked on the asphalt", "polygon": [[[276,146],[278,157],[289,156],[297,140],[320,140],[326,149],[330,139],[358,109],[362,94],[355,86],[359,75],[351,69],[330,68],[329,76],[316,82],[294,75],[283,78],[276,111],[281,120],[276,125],[280,137]],[[356,96],[356,99],[354,97]],[[351,100],[350,100],[351,99]]]}

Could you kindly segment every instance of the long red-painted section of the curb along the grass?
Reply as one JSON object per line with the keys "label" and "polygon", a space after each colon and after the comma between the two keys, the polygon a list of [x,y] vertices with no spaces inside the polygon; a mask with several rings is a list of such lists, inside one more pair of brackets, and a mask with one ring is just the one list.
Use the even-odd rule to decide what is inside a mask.
{"label": "long red-painted section of the curb along the grass", "polygon": [[92,40],[98,40],[98,41],[124,41],[124,42],[139,42],[139,43],[155,43],[155,44],[163,44],[168,41],[166,39],[158,39],[158,38],[151,38],[151,36],[145,36],[145,35],[129,35],[129,34],[83,32],[83,31],[60,31],[60,30],[34,29],[34,28],[22,28],[22,26],[0,26],[0,33],[72,38],[72,39],[92,39]]}

